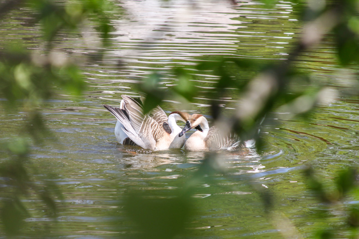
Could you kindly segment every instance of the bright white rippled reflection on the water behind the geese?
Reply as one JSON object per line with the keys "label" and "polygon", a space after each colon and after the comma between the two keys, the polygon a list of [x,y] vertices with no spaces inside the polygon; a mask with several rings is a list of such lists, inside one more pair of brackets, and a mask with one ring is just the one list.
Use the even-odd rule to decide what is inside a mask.
{"label": "bright white rippled reflection on the water behind the geese", "polygon": [[[223,1],[219,6],[217,1],[181,0],[160,3],[146,0],[125,1],[123,5],[130,21],[113,21],[118,30],[112,33],[113,47],[107,49],[109,64],[86,68],[90,81],[97,83],[94,87],[98,87],[101,81],[106,81],[106,85],[102,87],[107,87],[112,92],[118,91],[123,85],[130,85],[132,88],[132,85],[153,70],[165,73],[173,66],[194,65],[203,60],[204,56],[214,54],[278,59],[274,56],[287,54],[283,45],[292,39],[289,30],[281,32],[271,29],[271,25],[252,24],[253,19],[258,19],[261,23],[271,19],[277,20],[278,24],[286,21],[283,23],[288,25],[290,11],[287,10],[291,10],[292,6],[285,2],[276,5],[277,10],[265,9],[252,1],[236,5]],[[289,24],[286,29],[293,27],[294,25]],[[251,47],[250,52],[245,50],[248,46]],[[268,49],[264,50],[263,47]],[[281,48],[281,51],[278,52],[276,48]],[[125,56],[125,59],[118,56]],[[118,65],[118,62],[121,64]],[[218,80],[218,77],[212,75],[197,76],[201,84],[196,86],[202,89],[213,87],[210,84],[204,85],[204,82],[214,83]],[[108,86],[111,80],[108,77],[113,78],[111,87]],[[163,83],[165,87],[170,87],[175,79],[167,77],[169,82]],[[106,98],[112,100],[110,97]]]}

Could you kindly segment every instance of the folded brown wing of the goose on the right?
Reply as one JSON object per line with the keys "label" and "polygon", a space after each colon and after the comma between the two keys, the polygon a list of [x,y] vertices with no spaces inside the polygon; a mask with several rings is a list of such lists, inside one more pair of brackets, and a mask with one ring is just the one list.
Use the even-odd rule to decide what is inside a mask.
{"label": "folded brown wing of the goose on the right", "polygon": [[224,135],[215,126],[211,127],[204,139],[210,150],[228,148],[229,150],[243,148],[243,142],[234,134]]}

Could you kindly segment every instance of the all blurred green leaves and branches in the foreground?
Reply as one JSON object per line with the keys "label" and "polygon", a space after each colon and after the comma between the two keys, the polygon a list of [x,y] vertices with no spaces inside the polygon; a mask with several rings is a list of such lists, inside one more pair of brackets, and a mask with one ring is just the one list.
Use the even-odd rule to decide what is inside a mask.
{"label": "all blurred green leaves and branches in the foreground", "polygon": [[[266,0],[266,4],[274,4],[275,1]],[[289,113],[286,117],[307,115],[318,104],[330,100],[333,91],[327,87],[303,87],[309,76],[299,74],[295,69],[296,59],[308,49],[321,43],[326,34],[333,34],[336,41],[336,51],[341,64],[349,66],[359,63],[359,1],[331,1],[316,5],[311,1],[308,5],[298,1],[297,8],[303,17],[303,34],[292,47],[293,51],[288,59],[275,65],[266,62],[252,60],[238,60],[233,58],[211,59],[198,64],[196,70],[212,70],[220,79],[214,90],[208,93],[209,99],[218,99],[226,94],[228,88],[238,89],[239,103],[233,115],[224,115],[220,102],[213,102],[213,118],[215,121],[229,122],[225,130],[236,131],[243,139],[257,137],[258,147],[261,147],[260,135],[257,135],[257,122],[265,118],[270,121],[270,112],[283,111]],[[13,139],[10,143],[2,142],[1,149],[7,150],[10,161],[1,161],[0,165],[0,192],[1,192],[1,226],[7,235],[16,235],[19,228],[28,217],[28,211],[23,205],[29,192],[38,193],[45,206],[46,216],[54,217],[57,212],[56,200],[61,200],[61,193],[56,186],[44,180],[46,188],[39,188],[34,181],[41,180],[36,175],[41,175],[38,169],[31,165],[29,159],[29,145],[41,143],[42,134],[46,127],[38,113],[37,107],[53,97],[57,86],[66,89],[70,94],[78,94],[84,90],[85,83],[80,73],[80,68],[75,61],[62,58],[61,54],[53,48],[53,41],[57,35],[65,30],[79,31],[84,27],[84,21],[94,22],[92,29],[101,39],[102,44],[108,44],[108,33],[111,30],[111,13],[114,8],[108,1],[5,1],[0,6],[0,17],[6,18],[6,14],[17,10],[20,6],[35,9],[36,16],[29,20],[29,24],[41,25],[43,41],[47,51],[45,56],[34,55],[24,49],[21,44],[14,48],[0,50],[0,96],[5,99],[4,107],[8,111],[16,112],[18,109],[27,109],[28,122],[24,124],[25,134]],[[112,6],[112,7],[111,7]],[[314,7],[320,6],[320,7]],[[101,59],[101,52],[94,56]],[[81,59],[91,61],[91,59]],[[230,70],[229,70],[230,69]],[[256,71],[255,77],[242,79],[236,71]],[[157,73],[149,76],[141,85],[141,91],[148,94],[144,102],[145,111],[151,110],[161,101],[169,99],[174,94],[180,95],[188,101],[193,101],[197,94],[196,87],[192,85],[192,76],[183,68],[173,70],[178,78],[177,86],[163,90],[158,87],[161,76]],[[298,87],[300,86],[300,87]],[[289,115],[289,116],[288,116]],[[228,126],[228,125],[227,125]],[[223,173],[223,168],[217,164],[216,155],[208,156],[199,167],[193,178],[187,182],[187,186],[178,191],[178,197],[172,199],[150,199],[137,192],[133,192],[127,201],[127,212],[139,225],[148,238],[172,238],[181,232],[191,212],[191,191],[201,181],[210,180],[208,175]],[[340,203],[342,199],[353,193],[356,188],[355,172],[352,169],[340,172],[332,191],[325,190],[326,186],[318,180],[316,173],[308,169],[308,187],[317,195],[318,201],[332,207]],[[50,177],[50,175],[47,175]],[[245,180],[239,178],[239,180]],[[256,187],[253,185],[253,187]],[[268,191],[258,190],[258,194],[264,199],[267,210],[271,210],[272,196]],[[358,194],[354,193],[357,199]],[[357,199],[358,200],[358,199]],[[138,208],[137,205],[143,205]],[[149,208],[149,209],[148,209]],[[357,237],[353,230],[359,226],[359,209],[355,206],[343,209],[348,215],[348,221],[343,227],[350,231],[351,237]],[[158,218],[150,216],[154,212]],[[325,214],[318,212],[318,216]],[[165,219],[165,220],[163,220]],[[153,220],[153,221],[149,221]],[[164,228],[168,230],[163,230]],[[45,229],[44,229],[45,230]],[[318,231],[317,238],[330,238],[336,228],[328,228]],[[143,235],[139,235],[143,236]],[[293,235],[284,235],[290,238]]]}

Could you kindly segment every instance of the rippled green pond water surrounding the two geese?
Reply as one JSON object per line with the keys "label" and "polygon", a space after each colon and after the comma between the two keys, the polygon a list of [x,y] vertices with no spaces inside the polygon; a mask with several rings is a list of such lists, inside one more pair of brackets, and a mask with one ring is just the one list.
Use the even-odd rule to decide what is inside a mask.
{"label": "rippled green pond water surrounding the two geese", "polygon": [[[110,47],[105,49],[106,62],[84,63],[88,83],[84,96],[57,94],[41,108],[56,140],[32,148],[32,165],[39,168],[39,175],[52,175],[51,181],[59,186],[63,200],[58,200],[59,212],[53,220],[43,216],[38,195],[29,195],[25,199],[30,215],[21,234],[24,237],[37,238],[37,230],[46,227],[50,228],[50,238],[135,235],[134,223],[123,209],[126,193],[139,190],[145,195],[173,197],[177,190],[186,187],[205,154],[184,150],[130,152],[131,148],[117,143],[113,133],[116,121],[102,105],[119,105],[121,94],[138,96],[139,82],[153,71],[166,75],[176,66],[191,69],[213,56],[258,61],[285,59],[291,43],[298,38],[301,24],[290,1],[278,1],[272,9],[255,1],[231,5],[200,0],[130,0],[117,4],[126,14],[113,20],[116,30],[111,33]],[[31,9],[15,14],[2,23],[8,30],[1,33],[1,38],[23,41],[29,49],[45,54],[38,26],[21,24],[22,18],[31,17]],[[84,41],[80,35],[60,37],[56,47],[66,57],[83,58],[98,51],[96,39]],[[325,206],[323,210],[330,215],[330,222],[313,216],[320,205],[303,175],[308,163],[328,182],[338,170],[358,167],[359,100],[350,92],[350,79],[338,80],[343,70],[331,44],[327,40],[301,56],[298,69],[311,72],[312,78],[323,85],[335,87],[335,100],[315,109],[307,122],[278,119],[273,125],[264,125],[266,145],[262,154],[255,149],[222,152],[220,157],[228,172],[201,182],[193,191],[191,202],[196,210],[179,238],[278,238],[285,232],[280,225],[286,223],[308,237],[313,231],[346,220]],[[203,91],[218,80],[210,72],[193,74],[196,87]],[[172,87],[175,78],[166,76],[161,85]],[[231,94],[223,105],[228,115],[238,96],[235,91]],[[203,95],[192,104],[180,101],[166,101],[163,109],[166,113],[187,110],[210,114],[210,100]],[[24,115],[0,110],[0,138],[8,140],[19,134]],[[276,216],[264,210],[253,183],[274,195]],[[357,202],[348,199],[345,203]]]}

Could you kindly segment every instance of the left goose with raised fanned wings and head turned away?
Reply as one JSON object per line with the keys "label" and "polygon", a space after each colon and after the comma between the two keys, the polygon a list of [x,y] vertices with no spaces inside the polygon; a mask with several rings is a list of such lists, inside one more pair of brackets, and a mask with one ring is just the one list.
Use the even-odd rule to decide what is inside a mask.
{"label": "left goose with raised fanned wings and head turned away", "polygon": [[[122,95],[120,107],[103,105],[117,119],[115,136],[119,143],[138,145],[153,151],[182,148],[186,137],[176,137],[181,128],[176,121],[186,122],[190,114],[173,111],[169,116],[157,106],[144,115],[142,106],[130,96]],[[197,128],[202,130],[201,128]]]}

